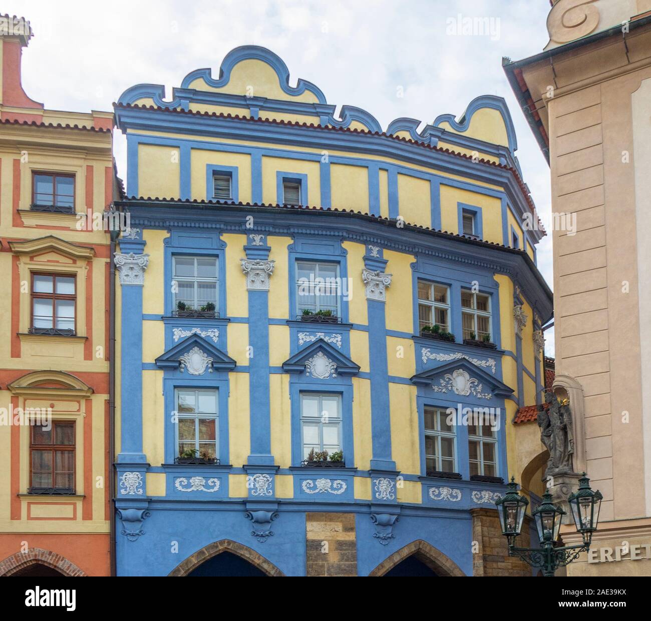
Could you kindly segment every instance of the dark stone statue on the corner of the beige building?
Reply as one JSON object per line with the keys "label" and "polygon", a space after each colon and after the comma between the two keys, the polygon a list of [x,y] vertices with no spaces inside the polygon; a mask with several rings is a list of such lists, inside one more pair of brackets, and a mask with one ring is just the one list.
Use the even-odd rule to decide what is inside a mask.
{"label": "dark stone statue on the corner of the beige building", "polygon": [[553,392],[545,393],[545,403],[538,412],[537,422],[540,427],[540,442],[549,451],[549,460],[545,477],[554,477],[572,472],[572,455],[574,454],[574,434],[572,432],[572,411],[567,399],[559,401]]}

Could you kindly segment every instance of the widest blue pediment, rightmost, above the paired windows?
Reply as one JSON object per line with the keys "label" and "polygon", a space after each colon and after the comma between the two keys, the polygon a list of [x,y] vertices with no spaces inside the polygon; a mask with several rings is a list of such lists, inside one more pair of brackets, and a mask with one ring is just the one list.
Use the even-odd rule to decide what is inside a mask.
{"label": "widest blue pediment, rightmost, above the paired windows", "polygon": [[508,397],[513,393],[512,388],[463,358],[418,373],[411,377],[411,382],[421,386],[432,386],[438,392],[451,391],[457,395],[473,394],[480,398],[485,398],[488,393],[497,397]]}

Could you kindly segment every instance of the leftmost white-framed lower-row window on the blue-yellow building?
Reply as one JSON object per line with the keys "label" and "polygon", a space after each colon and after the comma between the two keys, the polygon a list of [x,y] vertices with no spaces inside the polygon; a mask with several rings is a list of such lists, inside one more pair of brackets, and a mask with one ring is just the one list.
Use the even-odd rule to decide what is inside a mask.
{"label": "leftmost white-framed lower-row window on the blue-yellow building", "polygon": [[216,390],[178,389],[176,397],[177,453],[182,458],[219,457]]}

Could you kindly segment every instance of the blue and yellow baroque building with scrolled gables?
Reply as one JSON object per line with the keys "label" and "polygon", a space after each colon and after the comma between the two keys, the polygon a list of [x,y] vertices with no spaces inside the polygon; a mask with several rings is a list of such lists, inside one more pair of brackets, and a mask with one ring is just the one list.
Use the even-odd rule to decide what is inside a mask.
{"label": "blue and yellow baroque building with scrolled gables", "polygon": [[382,131],[255,46],[163,96],[115,104],[118,575],[531,575],[493,502],[552,297],[505,101]]}

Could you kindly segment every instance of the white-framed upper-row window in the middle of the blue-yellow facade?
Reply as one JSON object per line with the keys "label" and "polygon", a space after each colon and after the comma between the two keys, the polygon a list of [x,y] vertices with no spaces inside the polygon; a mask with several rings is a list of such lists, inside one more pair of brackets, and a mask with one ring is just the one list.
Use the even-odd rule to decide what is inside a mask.
{"label": "white-framed upper-row window in the middle of the blue-yellow facade", "polygon": [[339,264],[296,262],[296,305],[299,315],[340,317]]}

